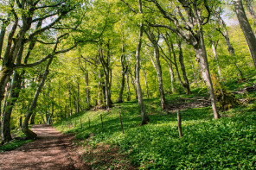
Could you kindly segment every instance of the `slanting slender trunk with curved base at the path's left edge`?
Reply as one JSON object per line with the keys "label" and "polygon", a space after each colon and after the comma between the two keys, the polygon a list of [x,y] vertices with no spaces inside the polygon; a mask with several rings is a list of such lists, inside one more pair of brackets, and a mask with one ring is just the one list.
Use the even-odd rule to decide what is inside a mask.
{"label": "slanting slender trunk with curved base at the path's left edge", "polygon": [[53,61],[53,57],[51,57],[49,60],[48,60],[48,64],[46,66],[46,69],[45,69],[45,72],[42,76],[42,79],[41,79],[41,82],[40,84],[38,85],[36,91],[35,91],[35,96],[33,98],[33,101],[32,101],[32,104],[30,105],[30,108],[29,108],[29,111],[27,112],[26,114],[26,117],[24,119],[24,122],[22,124],[22,132],[29,138],[29,139],[35,139],[35,137],[37,136],[33,131],[31,131],[29,129],[29,119],[30,117],[32,116],[33,114],[33,111],[35,110],[35,107],[36,107],[36,103],[37,103],[37,99],[39,97],[39,94],[42,90],[42,87],[44,85],[44,82],[45,80],[47,79],[47,76],[48,76],[48,73],[49,73],[49,66],[50,64],[52,63]]}

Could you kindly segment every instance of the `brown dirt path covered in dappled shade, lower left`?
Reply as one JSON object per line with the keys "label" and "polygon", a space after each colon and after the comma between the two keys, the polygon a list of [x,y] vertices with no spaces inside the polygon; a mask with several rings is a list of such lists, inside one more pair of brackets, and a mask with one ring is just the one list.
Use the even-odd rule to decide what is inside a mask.
{"label": "brown dirt path covered in dappled shade, lower left", "polygon": [[63,135],[50,125],[34,125],[38,136],[21,148],[0,153],[0,169],[89,169],[74,151],[74,135]]}

